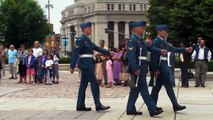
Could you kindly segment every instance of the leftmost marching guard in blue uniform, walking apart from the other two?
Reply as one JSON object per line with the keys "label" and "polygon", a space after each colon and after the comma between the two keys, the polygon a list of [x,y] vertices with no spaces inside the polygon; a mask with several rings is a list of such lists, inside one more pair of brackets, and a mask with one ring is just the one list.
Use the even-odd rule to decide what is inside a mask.
{"label": "leftmost marching guard in blue uniform, walking apart from the other two", "polygon": [[81,23],[80,27],[82,28],[83,34],[80,39],[76,40],[75,48],[71,56],[70,62],[70,72],[74,72],[77,59],[80,56],[78,61],[78,67],[82,71],[80,88],[78,91],[78,100],[77,100],[77,111],[90,111],[91,108],[85,106],[85,91],[90,82],[92,95],[95,101],[96,111],[109,109],[110,106],[104,106],[100,102],[100,90],[99,85],[95,76],[94,66],[95,61],[93,59],[93,50],[98,51],[105,55],[110,55],[110,52],[96,46],[88,37],[91,34],[91,22]]}

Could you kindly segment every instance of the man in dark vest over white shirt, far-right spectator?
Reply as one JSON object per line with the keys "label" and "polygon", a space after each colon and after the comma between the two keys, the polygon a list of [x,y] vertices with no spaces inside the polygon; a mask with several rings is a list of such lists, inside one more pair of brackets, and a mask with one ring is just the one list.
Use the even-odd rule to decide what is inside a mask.
{"label": "man in dark vest over white shirt, far-right spectator", "polygon": [[200,41],[200,46],[196,47],[192,53],[192,61],[195,62],[195,87],[205,87],[208,62],[211,60],[211,51],[205,46],[205,40]]}

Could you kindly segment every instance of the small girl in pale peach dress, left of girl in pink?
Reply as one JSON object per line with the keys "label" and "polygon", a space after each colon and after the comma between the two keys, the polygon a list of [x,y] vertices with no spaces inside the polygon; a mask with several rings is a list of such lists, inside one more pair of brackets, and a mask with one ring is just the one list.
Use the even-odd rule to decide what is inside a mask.
{"label": "small girl in pale peach dress, left of girl in pink", "polygon": [[102,78],[103,78],[103,68],[102,68],[102,59],[100,56],[96,56],[96,77],[98,80],[98,84],[102,84]]}

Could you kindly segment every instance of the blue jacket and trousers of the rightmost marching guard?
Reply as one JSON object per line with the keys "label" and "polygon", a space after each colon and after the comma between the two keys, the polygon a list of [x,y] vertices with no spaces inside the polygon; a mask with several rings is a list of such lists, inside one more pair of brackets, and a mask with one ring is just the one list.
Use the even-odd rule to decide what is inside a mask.
{"label": "blue jacket and trousers of the rightmost marching guard", "polygon": [[[159,49],[166,49],[167,51],[186,52],[185,48],[173,47],[160,37],[157,37],[154,39],[152,46],[157,47]],[[158,93],[162,85],[164,85],[173,106],[174,107],[177,106],[178,103],[177,103],[177,99],[175,97],[173,86],[171,83],[171,77],[170,77],[171,70],[168,67],[167,55],[162,56],[159,53],[153,52],[151,53],[151,61],[153,65],[153,70],[160,72],[159,76],[157,77],[156,84],[153,87],[151,92],[151,96],[153,97],[155,103],[157,104]]]}

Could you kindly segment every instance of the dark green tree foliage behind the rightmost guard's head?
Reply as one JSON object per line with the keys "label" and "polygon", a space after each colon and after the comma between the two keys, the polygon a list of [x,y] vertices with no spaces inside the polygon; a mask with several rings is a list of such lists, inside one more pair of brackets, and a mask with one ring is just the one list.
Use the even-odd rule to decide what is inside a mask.
{"label": "dark green tree foliage behind the rightmost guard's head", "polygon": [[195,43],[198,36],[207,42],[213,39],[213,0],[150,0],[150,5],[147,17],[152,36],[155,25],[168,24],[172,43]]}

